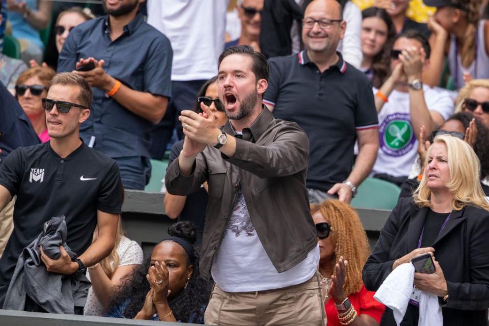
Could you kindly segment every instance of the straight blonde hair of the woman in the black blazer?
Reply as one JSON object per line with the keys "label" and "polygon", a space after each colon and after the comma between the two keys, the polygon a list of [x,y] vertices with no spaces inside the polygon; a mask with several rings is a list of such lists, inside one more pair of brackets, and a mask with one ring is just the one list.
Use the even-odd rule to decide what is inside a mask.
{"label": "straight blonde hair of the woman in the black blazer", "polygon": [[[453,195],[452,210],[460,210],[467,205],[489,210],[489,204],[485,200],[480,185],[480,161],[472,147],[467,142],[449,134],[438,135],[434,138],[433,144],[445,144],[447,147],[450,182],[446,184],[446,187]],[[431,145],[428,148],[425,167],[432,147]],[[425,171],[427,171],[426,168]],[[415,203],[421,207],[430,205],[431,191],[426,182],[426,178],[423,177],[413,193]]]}

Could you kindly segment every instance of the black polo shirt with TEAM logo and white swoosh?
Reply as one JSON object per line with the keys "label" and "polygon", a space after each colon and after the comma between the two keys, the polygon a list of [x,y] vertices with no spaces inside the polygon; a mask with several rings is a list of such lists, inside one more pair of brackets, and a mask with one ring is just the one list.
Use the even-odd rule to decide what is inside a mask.
{"label": "black polo shirt with TEAM logo and white swoosh", "polygon": [[92,243],[97,210],[121,213],[119,167],[85,144],[65,158],[49,142],[17,148],[0,166],[0,184],[17,195],[14,230],[0,259],[0,285],[9,284],[22,249],[52,216],[65,215],[66,242],[81,255]]}

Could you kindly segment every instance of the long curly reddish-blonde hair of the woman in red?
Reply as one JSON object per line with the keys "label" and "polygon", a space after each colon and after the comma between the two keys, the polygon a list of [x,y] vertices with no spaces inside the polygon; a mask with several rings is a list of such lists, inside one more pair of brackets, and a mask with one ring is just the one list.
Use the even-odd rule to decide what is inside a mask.
{"label": "long curly reddish-blonde hair of the woman in red", "polygon": [[330,236],[335,246],[334,261],[340,256],[348,260],[343,291],[348,296],[362,289],[362,268],[370,255],[368,238],[362,222],[350,205],[339,200],[325,200],[311,206],[311,214],[320,212],[331,225]]}

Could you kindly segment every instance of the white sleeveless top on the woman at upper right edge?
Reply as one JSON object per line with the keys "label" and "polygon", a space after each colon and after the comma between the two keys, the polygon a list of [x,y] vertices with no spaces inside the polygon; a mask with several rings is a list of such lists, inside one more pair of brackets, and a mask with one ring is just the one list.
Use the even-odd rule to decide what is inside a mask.
{"label": "white sleeveless top on the woman at upper right edge", "polygon": [[458,90],[464,87],[464,73],[470,73],[472,79],[489,78],[489,56],[485,52],[484,42],[484,23],[485,20],[479,21],[476,38],[475,60],[466,68],[462,66],[460,56],[457,53],[457,42],[454,35],[450,36],[450,50],[448,52],[448,63],[453,76],[455,88]]}

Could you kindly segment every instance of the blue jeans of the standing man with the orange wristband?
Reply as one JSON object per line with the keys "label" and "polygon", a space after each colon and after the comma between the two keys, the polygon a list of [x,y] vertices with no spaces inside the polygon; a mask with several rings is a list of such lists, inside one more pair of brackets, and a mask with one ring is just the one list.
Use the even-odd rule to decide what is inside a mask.
{"label": "blue jeans of the standing man with the orange wristband", "polygon": [[151,161],[144,156],[126,156],[114,158],[121,171],[125,189],[144,190],[151,178]]}

